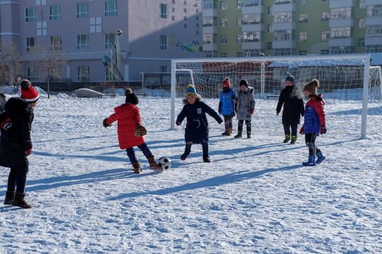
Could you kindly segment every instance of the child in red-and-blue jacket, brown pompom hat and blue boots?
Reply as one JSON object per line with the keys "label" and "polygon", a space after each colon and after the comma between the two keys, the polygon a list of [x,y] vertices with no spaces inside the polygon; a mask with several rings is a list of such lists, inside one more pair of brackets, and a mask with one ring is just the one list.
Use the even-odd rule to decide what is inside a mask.
{"label": "child in red-and-blue jacket, brown pompom hat and blue boots", "polygon": [[[325,156],[316,146],[318,135],[326,133],[325,111],[323,95],[317,93],[320,82],[313,79],[308,85],[303,87],[303,95],[308,99],[305,106],[305,117],[300,134],[305,134],[305,143],[309,150],[308,162],[303,162],[304,166],[316,166],[323,162]],[[317,156],[317,161],[315,161]]]}

